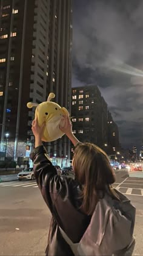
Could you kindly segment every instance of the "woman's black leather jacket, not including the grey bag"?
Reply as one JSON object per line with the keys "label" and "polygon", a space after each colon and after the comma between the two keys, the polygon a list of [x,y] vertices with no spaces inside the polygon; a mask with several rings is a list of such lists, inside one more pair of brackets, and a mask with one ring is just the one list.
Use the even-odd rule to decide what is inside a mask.
{"label": "woman's black leather jacket, not including the grey bag", "polygon": [[79,210],[82,204],[79,199],[79,183],[75,179],[57,175],[44,146],[35,148],[30,158],[33,160],[36,182],[53,216],[45,254],[73,255],[70,246],[61,235],[59,226],[73,243],[78,243],[87,229],[91,217]]}

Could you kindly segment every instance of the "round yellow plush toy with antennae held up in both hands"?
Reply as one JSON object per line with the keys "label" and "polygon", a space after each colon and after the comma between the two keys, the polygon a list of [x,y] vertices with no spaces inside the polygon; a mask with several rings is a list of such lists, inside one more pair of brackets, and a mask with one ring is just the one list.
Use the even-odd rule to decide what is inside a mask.
{"label": "round yellow plush toy with antennae held up in both hands", "polygon": [[54,93],[50,93],[47,101],[41,104],[32,102],[27,103],[28,108],[36,107],[35,118],[38,117],[38,124],[41,127],[45,121],[45,129],[42,135],[42,141],[55,141],[61,138],[64,133],[61,132],[59,126],[64,126],[63,115],[69,115],[64,107],[60,107],[50,100],[55,98]]}

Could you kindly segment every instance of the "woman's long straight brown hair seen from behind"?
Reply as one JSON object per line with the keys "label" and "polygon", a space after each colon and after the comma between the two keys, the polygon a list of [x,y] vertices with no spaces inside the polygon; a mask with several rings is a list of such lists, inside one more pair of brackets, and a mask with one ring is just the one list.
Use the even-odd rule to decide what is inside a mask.
{"label": "woman's long straight brown hair seen from behind", "polygon": [[82,210],[92,214],[99,200],[99,194],[108,191],[117,197],[111,189],[115,182],[115,173],[110,165],[107,154],[101,148],[91,143],[81,143],[75,148],[73,155],[73,171],[75,178],[81,184]]}

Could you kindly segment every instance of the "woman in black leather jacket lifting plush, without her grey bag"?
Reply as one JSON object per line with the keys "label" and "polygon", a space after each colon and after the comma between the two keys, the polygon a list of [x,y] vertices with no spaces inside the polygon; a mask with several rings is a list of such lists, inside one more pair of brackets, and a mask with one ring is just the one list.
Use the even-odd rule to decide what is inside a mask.
{"label": "woman in black leather jacket lifting plush, without her grey bag", "polygon": [[76,244],[90,223],[99,198],[105,191],[116,197],[110,184],[115,174],[102,149],[91,143],[79,143],[72,133],[70,118],[65,116],[65,126],[60,127],[75,146],[73,171],[75,179],[59,177],[42,146],[43,127],[33,121],[35,149],[30,155],[36,182],[52,213],[46,255],[75,255]]}

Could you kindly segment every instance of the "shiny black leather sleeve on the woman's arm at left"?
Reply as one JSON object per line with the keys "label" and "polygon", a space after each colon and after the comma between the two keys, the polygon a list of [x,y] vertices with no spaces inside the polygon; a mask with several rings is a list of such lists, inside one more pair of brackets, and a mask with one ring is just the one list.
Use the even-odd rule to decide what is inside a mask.
{"label": "shiny black leather sleeve on the woman's arm at left", "polygon": [[[59,191],[58,183],[55,180],[59,179],[55,167],[50,162],[47,151],[44,146],[39,146],[33,150],[30,154],[30,158],[33,161],[33,171],[35,174],[36,182],[41,190],[42,196],[50,211],[53,212],[53,199],[51,194]],[[56,185],[56,186],[55,186]]]}

